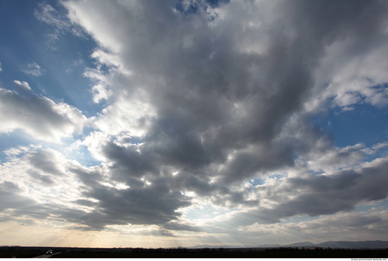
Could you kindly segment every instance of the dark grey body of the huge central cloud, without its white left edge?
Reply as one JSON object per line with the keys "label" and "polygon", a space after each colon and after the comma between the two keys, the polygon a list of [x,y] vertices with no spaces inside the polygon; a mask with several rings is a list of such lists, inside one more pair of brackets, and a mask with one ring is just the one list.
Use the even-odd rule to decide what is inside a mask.
{"label": "dark grey body of the huge central cloud, without its white left edge", "polygon": [[[157,117],[143,137],[145,146],[136,163],[132,160],[140,153],[129,156],[126,149],[117,154],[119,147],[106,147],[116,167],[138,170],[139,175],[152,165],[209,174],[210,165],[226,164],[223,172],[211,175],[229,184],[293,166],[295,155],[308,153],[312,145],[303,145],[303,137],[294,146],[279,134],[291,115],[303,111],[327,46],[349,36],[365,41],[366,35],[382,34],[386,6],[379,1],[282,4],[277,7],[279,19],[255,32],[270,42],[264,53],[241,51],[251,36],[243,34],[245,18],[240,16],[211,27],[200,9],[186,17],[174,14],[169,3],[125,6],[119,13],[128,12],[129,25],[118,30],[130,32],[131,37],[120,37],[131,48],[121,49],[121,62],[134,76],[131,86],[116,91],[137,91],[138,83],[149,94]],[[110,8],[120,4],[114,6]],[[140,29],[138,22],[145,15],[155,19],[147,19]],[[334,19],[327,23],[327,17]],[[226,26],[234,30],[224,32]],[[374,30],[365,30],[369,26]],[[303,119],[300,123],[300,128],[308,124]],[[145,160],[152,164],[143,164]]]}

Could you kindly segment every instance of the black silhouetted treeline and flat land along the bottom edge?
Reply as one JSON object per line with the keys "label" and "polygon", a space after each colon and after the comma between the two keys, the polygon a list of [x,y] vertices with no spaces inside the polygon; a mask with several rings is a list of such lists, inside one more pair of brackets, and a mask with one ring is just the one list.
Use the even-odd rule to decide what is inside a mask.
{"label": "black silhouetted treeline and flat land along the bottom edge", "polygon": [[[387,249],[341,249],[341,248],[54,248],[54,247],[23,247],[1,246],[0,257],[35,257],[44,255],[52,249],[53,258],[155,258],[155,257],[209,257],[209,258],[384,258]],[[59,254],[58,254],[59,253]]]}

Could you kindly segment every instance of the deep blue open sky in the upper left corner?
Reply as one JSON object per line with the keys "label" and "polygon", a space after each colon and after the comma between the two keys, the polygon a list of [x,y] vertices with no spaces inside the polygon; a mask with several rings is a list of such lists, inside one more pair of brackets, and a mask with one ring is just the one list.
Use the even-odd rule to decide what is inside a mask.
{"label": "deep blue open sky in the upper left corner", "polygon": [[[7,36],[1,46],[1,61],[6,68],[3,81],[12,84],[14,78],[20,78],[29,82],[35,93],[64,101],[94,115],[100,108],[92,103],[90,91],[85,88],[90,82],[83,77],[83,70],[92,65],[90,51],[96,44],[86,35],[76,37],[70,32],[60,32],[59,35],[63,36],[60,41],[51,39],[49,35],[54,34],[53,27],[37,20],[35,15],[40,4],[39,1],[1,3],[2,9],[8,13],[1,17],[1,32]],[[63,11],[61,5],[53,4]],[[42,68],[42,75],[23,72],[33,63]]]}

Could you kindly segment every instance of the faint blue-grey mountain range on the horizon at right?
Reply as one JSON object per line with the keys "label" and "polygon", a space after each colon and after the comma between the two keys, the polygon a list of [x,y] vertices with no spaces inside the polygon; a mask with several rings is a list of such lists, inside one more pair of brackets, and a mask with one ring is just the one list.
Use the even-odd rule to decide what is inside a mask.
{"label": "faint blue-grey mountain range on the horizon at right", "polygon": [[289,247],[318,247],[318,248],[388,248],[388,241],[327,241],[319,244],[312,242],[298,242],[289,245],[259,245],[259,246],[191,246],[188,248],[289,248]]}

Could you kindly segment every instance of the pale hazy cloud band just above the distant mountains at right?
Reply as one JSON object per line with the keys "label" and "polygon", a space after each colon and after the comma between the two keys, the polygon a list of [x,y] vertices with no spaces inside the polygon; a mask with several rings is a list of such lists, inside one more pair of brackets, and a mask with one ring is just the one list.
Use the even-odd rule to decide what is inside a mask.
{"label": "pale hazy cloud band just above the distant mountains at right", "polygon": [[387,221],[386,210],[372,209],[339,213],[319,219],[306,220],[306,217],[298,217],[282,224],[255,224],[241,227],[235,233],[246,244],[252,241],[266,243],[360,241],[360,235],[363,235],[364,240],[373,241],[375,238],[384,238]]}

